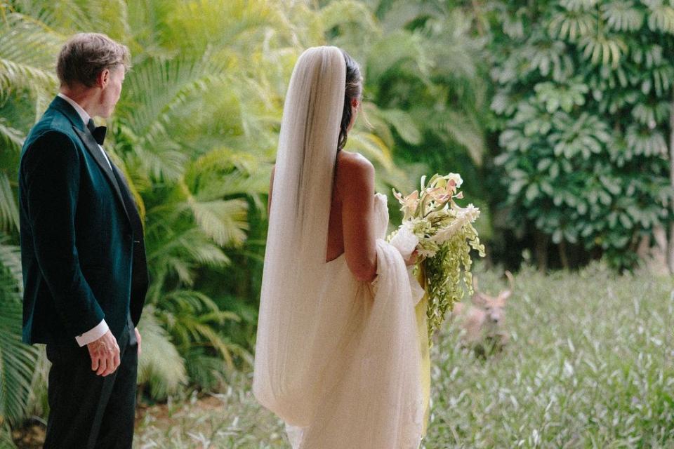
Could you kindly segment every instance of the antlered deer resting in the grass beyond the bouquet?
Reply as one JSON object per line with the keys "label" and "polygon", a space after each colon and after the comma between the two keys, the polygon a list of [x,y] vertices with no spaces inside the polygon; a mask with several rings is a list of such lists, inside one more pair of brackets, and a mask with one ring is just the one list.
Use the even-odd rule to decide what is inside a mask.
{"label": "antlered deer resting in the grass beyond the bouquet", "polygon": [[508,333],[505,331],[505,301],[513,295],[515,280],[513,274],[505,271],[509,288],[501,290],[496,296],[480,292],[477,278],[473,276],[473,304],[457,302],[451,311],[452,319],[457,319],[463,330],[461,344],[473,349],[479,358],[486,358],[489,354],[503,351],[508,343]]}

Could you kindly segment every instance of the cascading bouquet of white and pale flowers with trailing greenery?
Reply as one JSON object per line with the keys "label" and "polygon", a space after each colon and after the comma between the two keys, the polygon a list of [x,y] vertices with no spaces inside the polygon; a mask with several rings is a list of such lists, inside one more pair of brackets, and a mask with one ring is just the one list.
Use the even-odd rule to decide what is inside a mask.
{"label": "cascading bouquet of white and pale flowers with trailing greenery", "polygon": [[469,204],[459,207],[454,199],[463,198],[457,192],[463,180],[456,173],[434,175],[425,182],[421,178],[421,191],[402,196],[393,190],[393,195],[402,205],[402,225],[389,236],[390,243],[409,257],[416,249],[418,259],[414,270],[428,297],[428,338],[440,328],[444,316],[463,297],[461,279],[473,293],[473,277],[470,274],[470,249],[484,257],[473,222],[480,216],[480,209]]}

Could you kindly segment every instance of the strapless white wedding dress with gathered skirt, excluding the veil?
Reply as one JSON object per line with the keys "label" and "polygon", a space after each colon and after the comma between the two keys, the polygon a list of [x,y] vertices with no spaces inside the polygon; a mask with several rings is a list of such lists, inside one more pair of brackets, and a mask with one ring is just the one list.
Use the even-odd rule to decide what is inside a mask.
{"label": "strapless white wedding dress with gathered skirt, excluding the veil", "polygon": [[[376,194],[378,275],[357,281],[344,255],[324,267],[324,321],[315,336],[322,385],[307,426],[286,424],[293,449],[416,449],[421,441],[421,356],[407,269],[383,239],[386,196]],[[316,349],[315,349],[316,350]]]}

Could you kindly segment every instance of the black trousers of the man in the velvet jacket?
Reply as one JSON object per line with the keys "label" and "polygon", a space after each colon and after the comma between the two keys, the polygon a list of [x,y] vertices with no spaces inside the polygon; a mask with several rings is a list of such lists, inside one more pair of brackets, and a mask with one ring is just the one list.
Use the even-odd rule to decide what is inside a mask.
{"label": "black trousers of the man in the velvet jacket", "polygon": [[85,347],[47,344],[49,417],[45,449],[126,449],[133,442],[138,344],[133,329],[119,344],[121,363],[106,377],[91,370]]}

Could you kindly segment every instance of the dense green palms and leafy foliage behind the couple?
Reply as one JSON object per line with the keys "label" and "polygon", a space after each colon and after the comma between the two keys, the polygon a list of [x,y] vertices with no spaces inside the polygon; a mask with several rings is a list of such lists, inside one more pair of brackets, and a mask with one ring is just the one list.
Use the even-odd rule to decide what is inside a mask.
{"label": "dense green palms and leafy foliage behind the couple", "polygon": [[669,1],[0,0],[0,438],[46,412],[44,356],[19,342],[15,180],[79,31],[133,55],[106,149],[145,220],[146,400],[249,368],[284,92],[309,46],[362,65],[347,149],[378,189],[461,173],[490,266],[674,267]]}

